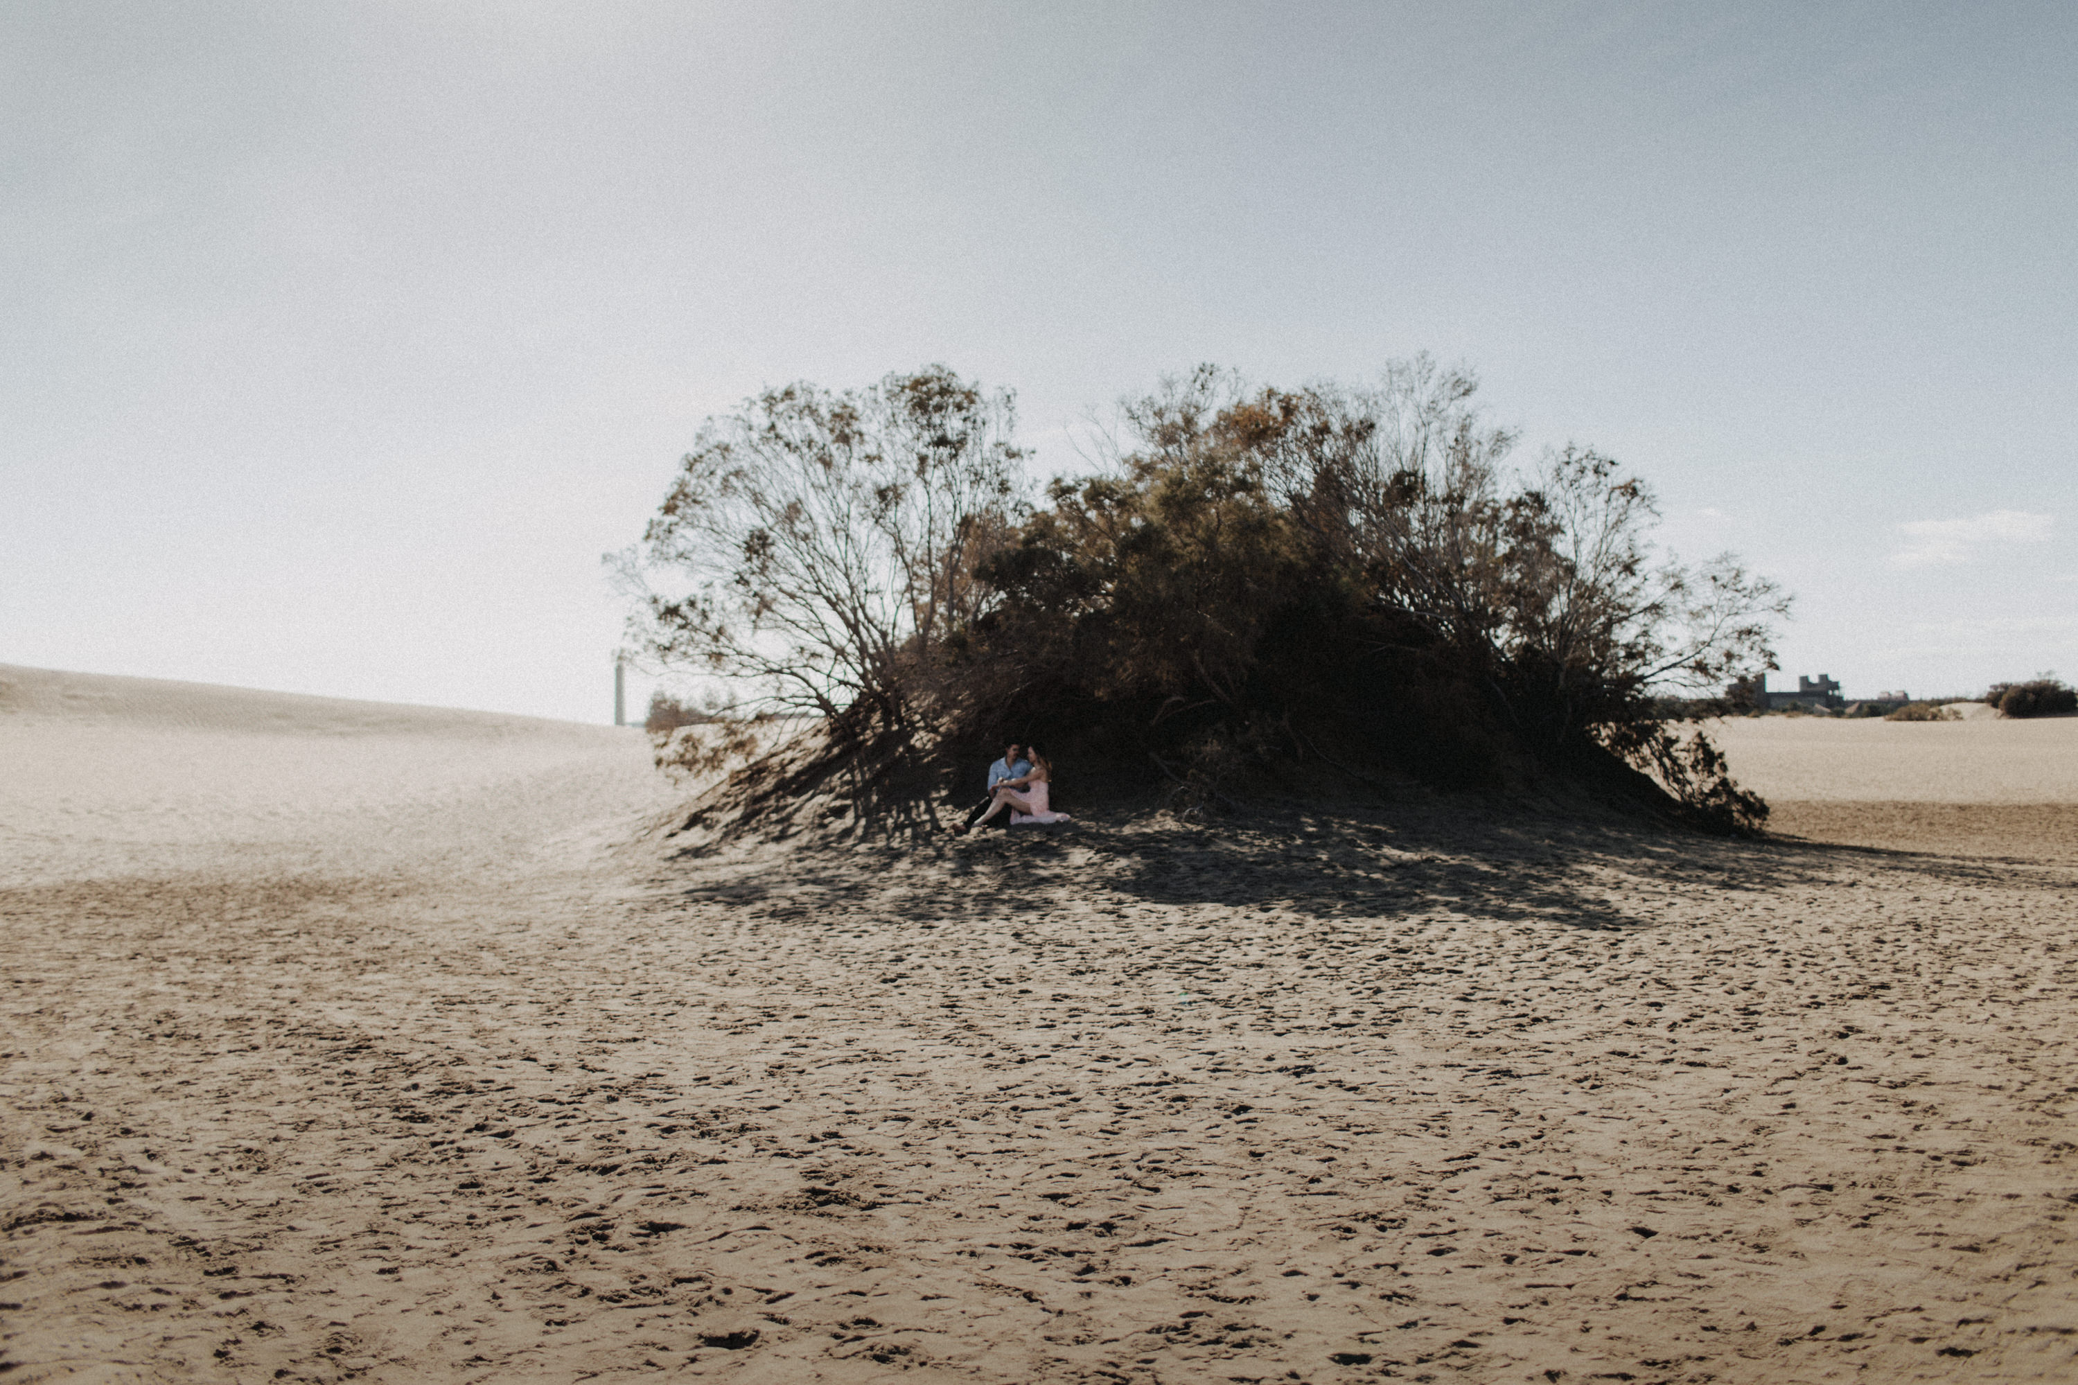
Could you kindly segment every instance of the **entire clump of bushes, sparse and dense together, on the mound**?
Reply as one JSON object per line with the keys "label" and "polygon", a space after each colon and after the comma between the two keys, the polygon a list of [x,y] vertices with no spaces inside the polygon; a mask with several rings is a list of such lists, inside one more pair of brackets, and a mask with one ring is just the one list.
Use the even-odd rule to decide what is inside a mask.
{"label": "entire clump of bushes, sparse and dense together, on the mound", "polygon": [[709,419],[623,554],[634,629],[754,689],[736,718],[823,718],[812,764],[744,779],[767,795],[842,772],[929,814],[1014,735],[1070,793],[1139,781],[1184,812],[1415,775],[1758,829],[1667,708],[1721,712],[1733,673],[1773,669],[1787,598],[1658,554],[1652,492],[1600,453],[1513,469],[1473,392],[1428,359],[1369,388],[1205,368],[1035,496],[1008,392],[943,368],[769,390]]}

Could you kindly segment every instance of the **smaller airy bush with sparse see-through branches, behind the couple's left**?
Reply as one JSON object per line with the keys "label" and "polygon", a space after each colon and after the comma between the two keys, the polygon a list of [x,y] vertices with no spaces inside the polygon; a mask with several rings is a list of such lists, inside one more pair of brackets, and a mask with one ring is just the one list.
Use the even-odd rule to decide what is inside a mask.
{"label": "smaller airy bush with sparse see-through branches, behind the couple's left", "polygon": [[[713,417],[638,550],[636,642],[713,675],[723,712],[808,712],[864,772],[948,721],[950,648],[1018,513],[1014,403],[941,365],[831,392],[767,390]],[[680,745],[734,745],[729,737]],[[858,768],[858,766],[854,766]]]}

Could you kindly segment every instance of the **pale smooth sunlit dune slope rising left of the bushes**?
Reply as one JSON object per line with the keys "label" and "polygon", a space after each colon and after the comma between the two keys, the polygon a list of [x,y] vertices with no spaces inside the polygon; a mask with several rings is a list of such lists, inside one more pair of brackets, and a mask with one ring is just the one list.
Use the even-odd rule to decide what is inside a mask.
{"label": "pale smooth sunlit dune slope rising left of the bushes", "polygon": [[15,664],[0,766],[0,882],[17,885],[229,862],[497,870],[515,833],[669,797],[638,729]]}

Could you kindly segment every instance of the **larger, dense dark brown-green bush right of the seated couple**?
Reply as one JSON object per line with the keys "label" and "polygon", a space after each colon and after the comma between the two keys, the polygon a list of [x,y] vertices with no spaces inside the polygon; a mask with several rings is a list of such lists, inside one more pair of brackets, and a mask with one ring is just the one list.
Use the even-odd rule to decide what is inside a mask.
{"label": "larger, dense dark brown-green bush right of the seated couple", "polygon": [[1130,403],[1110,465],[1054,482],[983,565],[983,650],[1024,708],[1074,708],[1027,718],[1126,723],[1199,793],[1274,758],[1446,783],[1627,762],[1756,826],[1664,694],[1770,664],[1785,602],[1729,559],[1654,561],[1652,494],[1606,457],[1511,473],[1473,388],[1428,361],[1369,390],[1201,370]]}

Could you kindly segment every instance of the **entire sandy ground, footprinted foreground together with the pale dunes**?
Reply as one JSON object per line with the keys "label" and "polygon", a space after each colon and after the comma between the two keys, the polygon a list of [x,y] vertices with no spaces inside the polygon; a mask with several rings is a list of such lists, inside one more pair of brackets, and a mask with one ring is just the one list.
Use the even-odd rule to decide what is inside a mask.
{"label": "entire sandy ground, footprinted foreground together with the pale dunes", "polygon": [[0,1364],[2078,1379],[2078,868],[1870,829],[2070,733],[1895,731],[1727,733],[1881,847],[673,858],[632,733],[0,669]]}

